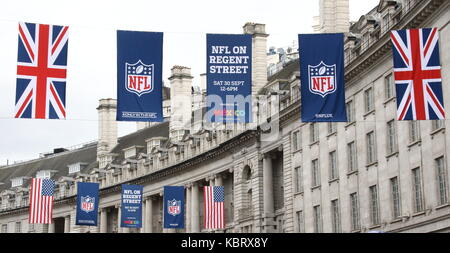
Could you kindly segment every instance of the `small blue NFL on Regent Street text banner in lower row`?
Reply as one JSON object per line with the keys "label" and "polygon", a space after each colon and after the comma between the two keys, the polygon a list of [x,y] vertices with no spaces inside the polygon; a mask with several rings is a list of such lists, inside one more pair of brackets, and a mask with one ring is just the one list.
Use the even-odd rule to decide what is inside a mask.
{"label": "small blue NFL on Regent Street text banner in lower row", "polygon": [[142,194],[144,187],[141,185],[122,185],[122,205],[120,227],[142,227]]}

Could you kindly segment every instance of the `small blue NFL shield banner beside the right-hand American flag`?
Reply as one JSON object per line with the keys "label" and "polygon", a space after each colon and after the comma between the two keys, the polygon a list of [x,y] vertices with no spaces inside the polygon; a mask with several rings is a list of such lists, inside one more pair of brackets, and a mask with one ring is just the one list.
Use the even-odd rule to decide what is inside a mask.
{"label": "small blue NFL shield banner beside the right-hand American flag", "polygon": [[183,186],[164,186],[164,228],[184,228]]}

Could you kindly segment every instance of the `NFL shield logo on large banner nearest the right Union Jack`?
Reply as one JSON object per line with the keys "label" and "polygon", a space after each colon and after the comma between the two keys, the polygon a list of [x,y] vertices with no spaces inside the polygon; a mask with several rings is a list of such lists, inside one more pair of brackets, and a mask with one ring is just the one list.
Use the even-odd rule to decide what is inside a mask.
{"label": "NFL shield logo on large banner nearest the right Union Jack", "polygon": [[325,97],[336,91],[336,64],[326,65],[323,61],[317,66],[308,65],[309,91]]}

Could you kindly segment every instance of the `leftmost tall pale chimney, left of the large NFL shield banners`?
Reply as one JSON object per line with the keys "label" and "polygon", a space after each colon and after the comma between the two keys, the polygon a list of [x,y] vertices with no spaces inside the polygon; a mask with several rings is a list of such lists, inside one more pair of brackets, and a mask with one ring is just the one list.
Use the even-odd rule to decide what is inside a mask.
{"label": "leftmost tall pale chimney, left of the large NFL shield banners", "polygon": [[117,100],[100,99],[98,111],[98,145],[97,158],[109,153],[117,145]]}

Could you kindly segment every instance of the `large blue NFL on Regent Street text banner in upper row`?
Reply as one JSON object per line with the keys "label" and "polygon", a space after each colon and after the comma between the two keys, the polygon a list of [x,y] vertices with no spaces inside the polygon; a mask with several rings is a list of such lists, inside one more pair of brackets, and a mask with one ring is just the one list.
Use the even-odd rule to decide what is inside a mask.
{"label": "large blue NFL on Regent Street text banner in upper row", "polygon": [[252,36],[207,34],[208,122],[252,121]]}

